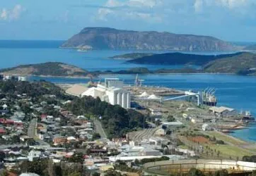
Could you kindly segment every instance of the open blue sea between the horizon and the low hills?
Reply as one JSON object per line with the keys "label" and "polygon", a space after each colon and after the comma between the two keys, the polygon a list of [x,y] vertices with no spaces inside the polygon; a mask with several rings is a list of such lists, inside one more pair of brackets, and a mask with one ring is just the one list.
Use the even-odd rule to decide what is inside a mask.
{"label": "open blue sea between the horizon and the low hills", "polygon": [[[141,65],[126,63],[124,60],[111,59],[111,56],[138,51],[87,51],[78,52],[75,49],[59,49],[63,41],[6,41],[0,40],[0,68],[10,68],[21,64],[63,62],[76,65],[89,71],[95,70],[127,70],[143,67],[150,70],[159,68],[182,68],[182,65]],[[152,52],[152,51],[139,51]],[[163,53],[167,51],[154,51]],[[199,54],[194,53],[194,54]],[[202,52],[201,54],[217,54]],[[218,53],[223,54],[223,53]],[[8,61],[8,62],[6,62]]]}

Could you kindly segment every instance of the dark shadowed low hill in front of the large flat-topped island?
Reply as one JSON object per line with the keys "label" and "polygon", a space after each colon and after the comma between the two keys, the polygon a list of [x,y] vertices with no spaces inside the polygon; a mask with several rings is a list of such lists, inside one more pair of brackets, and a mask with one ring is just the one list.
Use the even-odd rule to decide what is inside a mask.
{"label": "dark shadowed low hill in front of the large flat-topped island", "polygon": [[236,54],[221,54],[221,55],[198,55],[198,54],[182,54],[182,53],[166,53],[154,54],[136,58],[128,63],[152,64],[152,65],[205,65],[209,61],[214,61],[219,58],[228,58]]}

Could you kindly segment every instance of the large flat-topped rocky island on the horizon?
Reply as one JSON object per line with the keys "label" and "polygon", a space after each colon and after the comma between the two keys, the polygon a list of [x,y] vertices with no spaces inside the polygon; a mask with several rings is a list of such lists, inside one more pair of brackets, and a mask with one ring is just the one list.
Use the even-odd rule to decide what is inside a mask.
{"label": "large flat-topped rocky island on the horizon", "polygon": [[68,39],[63,48],[149,51],[230,51],[235,46],[209,36],[139,32],[109,27],[86,27]]}

